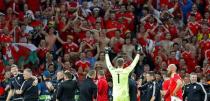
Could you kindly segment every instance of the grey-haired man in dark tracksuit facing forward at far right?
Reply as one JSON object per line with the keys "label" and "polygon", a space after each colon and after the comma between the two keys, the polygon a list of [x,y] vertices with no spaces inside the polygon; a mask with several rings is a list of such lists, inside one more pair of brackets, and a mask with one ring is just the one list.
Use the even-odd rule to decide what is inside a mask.
{"label": "grey-haired man in dark tracksuit facing forward at far right", "polygon": [[184,87],[183,100],[185,101],[207,101],[207,93],[201,83],[197,82],[197,75],[190,74],[191,83]]}

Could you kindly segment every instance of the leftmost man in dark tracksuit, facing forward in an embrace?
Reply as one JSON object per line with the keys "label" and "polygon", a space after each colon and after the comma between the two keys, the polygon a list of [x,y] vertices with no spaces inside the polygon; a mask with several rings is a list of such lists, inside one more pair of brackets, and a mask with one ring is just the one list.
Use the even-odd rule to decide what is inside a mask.
{"label": "leftmost man in dark tracksuit, facing forward in an embrace", "polygon": [[23,74],[19,73],[18,67],[16,65],[11,66],[11,73],[13,75],[13,78],[10,81],[10,91],[8,93],[6,101],[10,101],[12,97],[13,101],[22,101],[22,94],[17,94],[16,90],[19,90],[24,82]]}

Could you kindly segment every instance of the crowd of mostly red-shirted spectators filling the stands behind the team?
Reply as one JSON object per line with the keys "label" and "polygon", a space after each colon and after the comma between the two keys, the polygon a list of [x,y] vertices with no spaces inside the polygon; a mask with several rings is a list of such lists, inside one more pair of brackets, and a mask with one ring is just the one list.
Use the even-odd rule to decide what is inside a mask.
{"label": "crowd of mostly red-shirted spectators filling the stands behind the team", "polygon": [[[36,59],[27,62],[30,53],[14,43],[37,47]],[[138,45],[136,81],[154,71],[162,82],[168,65],[176,64],[185,84],[193,72],[209,85],[210,0],[0,0],[0,96],[9,90],[13,64],[55,85],[62,71],[81,81],[89,70],[103,70],[111,87],[104,48],[111,48],[113,65],[122,57],[127,67]]]}

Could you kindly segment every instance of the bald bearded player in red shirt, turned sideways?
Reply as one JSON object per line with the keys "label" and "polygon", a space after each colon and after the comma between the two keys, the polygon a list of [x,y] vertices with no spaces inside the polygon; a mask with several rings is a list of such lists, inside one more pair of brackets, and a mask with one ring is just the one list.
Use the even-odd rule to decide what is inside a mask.
{"label": "bald bearded player in red shirt, turned sideways", "polygon": [[177,71],[177,67],[175,64],[170,64],[167,68],[168,71],[168,75],[170,77],[170,84],[169,84],[169,88],[168,91],[166,92],[169,93],[170,98],[171,97],[176,97],[180,100],[183,99],[182,96],[182,79],[179,76],[179,74],[176,73]]}

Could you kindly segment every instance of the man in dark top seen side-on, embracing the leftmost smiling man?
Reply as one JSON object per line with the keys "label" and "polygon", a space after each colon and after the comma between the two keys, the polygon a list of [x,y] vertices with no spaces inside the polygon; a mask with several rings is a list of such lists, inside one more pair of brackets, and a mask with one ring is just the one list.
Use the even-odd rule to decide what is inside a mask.
{"label": "man in dark top seen side-on, embracing the leftmost smiling man", "polygon": [[25,81],[23,82],[20,90],[17,90],[16,93],[23,94],[23,101],[38,101],[38,86],[33,86],[35,79],[32,76],[31,69],[25,69],[23,71],[23,77]]}

